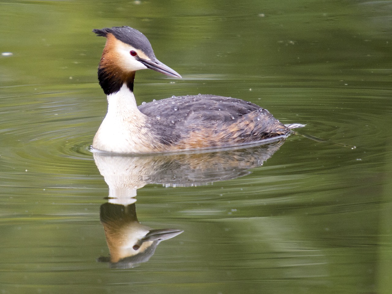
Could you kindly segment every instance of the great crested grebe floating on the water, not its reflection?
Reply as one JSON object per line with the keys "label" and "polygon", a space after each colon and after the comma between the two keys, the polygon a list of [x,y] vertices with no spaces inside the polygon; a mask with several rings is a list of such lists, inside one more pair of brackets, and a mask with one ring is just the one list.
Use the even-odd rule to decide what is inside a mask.
{"label": "great crested grebe floating on the water, not its reflection", "polygon": [[155,153],[228,147],[287,135],[300,124],[284,125],[260,106],[215,95],[173,96],[136,105],[135,72],[153,69],[180,74],[154,55],[149,40],[131,27],[94,29],[106,37],[98,80],[107,95],[107,114],[93,148],[116,153]]}

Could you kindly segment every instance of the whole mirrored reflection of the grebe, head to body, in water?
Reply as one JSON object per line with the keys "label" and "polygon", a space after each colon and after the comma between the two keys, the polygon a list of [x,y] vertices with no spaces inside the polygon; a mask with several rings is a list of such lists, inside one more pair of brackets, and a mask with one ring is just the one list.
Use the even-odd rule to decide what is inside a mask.
{"label": "whole mirrored reflection of the grebe, head to body, in water", "polygon": [[178,229],[151,229],[136,217],[136,191],[151,183],[192,186],[230,180],[263,165],[284,138],[247,149],[214,152],[125,156],[94,152],[95,163],[109,186],[108,203],[100,219],[110,257],[98,260],[111,267],[129,268],[148,261],[160,241],[181,234]]}

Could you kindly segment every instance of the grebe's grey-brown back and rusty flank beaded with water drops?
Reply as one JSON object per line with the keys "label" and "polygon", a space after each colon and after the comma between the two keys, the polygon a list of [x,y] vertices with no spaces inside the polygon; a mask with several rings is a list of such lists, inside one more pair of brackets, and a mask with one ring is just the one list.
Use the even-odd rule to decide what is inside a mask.
{"label": "grebe's grey-brown back and rusty flank beaded with water drops", "polygon": [[[176,149],[225,147],[288,134],[289,128],[266,109],[215,95],[172,97],[140,105],[156,133]],[[157,117],[159,119],[157,119]]]}

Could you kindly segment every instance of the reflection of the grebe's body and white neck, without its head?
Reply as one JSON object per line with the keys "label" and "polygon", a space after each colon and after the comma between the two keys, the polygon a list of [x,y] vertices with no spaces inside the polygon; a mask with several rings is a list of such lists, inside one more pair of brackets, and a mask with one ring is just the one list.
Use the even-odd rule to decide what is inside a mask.
{"label": "reflection of the grebe's body and white neck, without its head", "polygon": [[260,167],[285,139],[250,148],[219,152],[151,154],[143,156],[94,152],[94,161],[109,186],[111,203],[131,204],[137,189],[147,184],[188,187],[230,180]]}

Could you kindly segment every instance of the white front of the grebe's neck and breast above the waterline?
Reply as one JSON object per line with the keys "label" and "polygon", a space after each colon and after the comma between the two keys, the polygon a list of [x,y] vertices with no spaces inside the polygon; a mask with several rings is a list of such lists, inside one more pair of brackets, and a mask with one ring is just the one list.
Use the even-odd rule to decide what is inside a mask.
{"label": "white front of the grebe's neck and breast above the waterline", "polygon": [[123,84],[120,91],[107,95],[107,102],[107,114],[94,136],[93,147],[118,153],[140,152],[140,145],[145,144],[138,134],[147,116],[139,111],[132,91]]}

